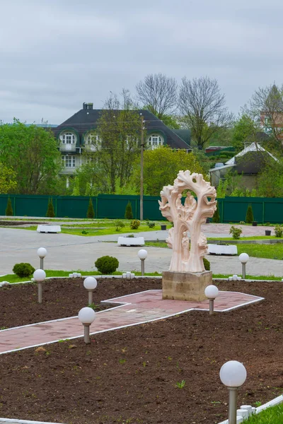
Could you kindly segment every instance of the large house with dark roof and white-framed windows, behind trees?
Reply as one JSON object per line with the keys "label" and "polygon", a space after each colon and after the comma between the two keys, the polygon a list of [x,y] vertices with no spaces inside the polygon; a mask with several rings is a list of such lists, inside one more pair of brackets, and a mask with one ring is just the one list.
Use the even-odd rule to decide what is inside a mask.
{"label": "large house with dark roof and white-framed windows, behind trees", "polygon": [[[83,103],[83,108],[52,129],[62,153],[62,174],[72,175],[83,163],[82,153],[93,141],[98,141],[96,129],[103,110],[93,109],[93,103]],[[189,129],[170,129],[149,110],[135,111],[144,117],[146,148],[170,146],[192,151]]]}

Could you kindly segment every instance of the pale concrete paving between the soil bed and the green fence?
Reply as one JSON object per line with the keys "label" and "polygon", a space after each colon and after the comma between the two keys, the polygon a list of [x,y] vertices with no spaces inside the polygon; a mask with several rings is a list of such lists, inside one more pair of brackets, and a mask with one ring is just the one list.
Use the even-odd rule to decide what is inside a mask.
{"label": "pale concrete paving between the soil bed and the green fence", "polygon": [[[264,235],[265,227],[243,225],[243,235]],[[207,237],[228,236],[229,224],[204,224],[202,231]],[[268,228],[268,227],[267,227]],[[117,237],[121,234],[96,237],[83,237],[69,234],[42,234],[16,228],[0,228],[0,275],[11,273],[14,264],[29,262],[35,268],[40,264],[37,257],[38,247],[46,247],[45,269],[58,270],[95,270],[94,262],[105,254],[117,257],[121,271],[140,269],[137,252],[141,247],[120,247]],[[168,230],[139,232],[145,240],[165,240]],[[112,241],[112,242],[111,242]],[[168,270],[171,249],[146,247],[148,257],[145,269],[148,272]],[[238,257],[207,256],[213,273],[241,274]],[[273,259],[250,258],[247,264],[250,275],[275,275],[283,278],[282,261]]]}

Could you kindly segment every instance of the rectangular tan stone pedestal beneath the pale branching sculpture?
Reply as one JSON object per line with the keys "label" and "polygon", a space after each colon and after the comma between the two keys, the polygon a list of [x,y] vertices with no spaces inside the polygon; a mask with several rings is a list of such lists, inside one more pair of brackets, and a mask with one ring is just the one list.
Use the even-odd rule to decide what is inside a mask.
{"label": "rectangular tan stone pedestal beneath the pale branching sculpture", "polygon": [[207,297],[204,290],[212,284],[212,271],[162,273],[162,298],[202,302]]}

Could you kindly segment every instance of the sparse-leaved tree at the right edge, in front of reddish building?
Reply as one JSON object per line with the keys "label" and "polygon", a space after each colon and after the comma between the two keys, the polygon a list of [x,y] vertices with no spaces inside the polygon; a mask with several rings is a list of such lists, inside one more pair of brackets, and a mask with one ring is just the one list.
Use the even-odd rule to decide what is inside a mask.
{"label": "sparse-leaved tree at the right edge, in front of reddish building", "polygon": [[282,148],[283,139],[283,86],[274,84],[258,88],[246,111],[270,135],[270,144]]}

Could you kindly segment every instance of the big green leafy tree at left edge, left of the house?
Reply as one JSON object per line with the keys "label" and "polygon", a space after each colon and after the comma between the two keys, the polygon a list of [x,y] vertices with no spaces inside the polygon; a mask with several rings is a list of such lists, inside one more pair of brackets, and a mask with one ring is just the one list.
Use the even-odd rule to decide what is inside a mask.
{"label": "big green leafy tree at left edge, left of the house", "polygon": [[61,155],[52,132],[14,120],[0,125],[1,162],[13,170],[20,194],[48,194],[57,184]]}

